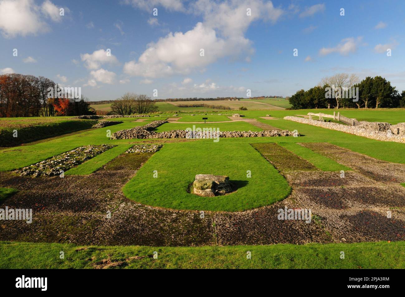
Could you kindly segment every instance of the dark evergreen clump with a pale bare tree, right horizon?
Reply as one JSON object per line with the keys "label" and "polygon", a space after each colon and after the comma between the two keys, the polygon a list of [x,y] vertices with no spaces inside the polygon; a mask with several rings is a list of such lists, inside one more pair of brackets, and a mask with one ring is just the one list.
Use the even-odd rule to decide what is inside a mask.
{"label": "dark evergreen clump with a pale bare tree, right horizon", "polygon": [[307,91],[297,91],[289,102],[290,109],[395,108],[405,107],[405,91],[399,93],[381,76],[360,81],[354,74],[338,73]]}

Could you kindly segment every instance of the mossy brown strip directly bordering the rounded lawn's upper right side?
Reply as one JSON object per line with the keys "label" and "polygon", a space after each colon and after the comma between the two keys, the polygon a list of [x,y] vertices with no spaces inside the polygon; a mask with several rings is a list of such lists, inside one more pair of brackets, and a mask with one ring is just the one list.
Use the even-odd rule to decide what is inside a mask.
{"label": "mossy brown strip directly bordering the rounded lawn's upper right side", "polygon": [[279,171],[315,171],[315,166],[277,143],[253,143],[252,146]]}

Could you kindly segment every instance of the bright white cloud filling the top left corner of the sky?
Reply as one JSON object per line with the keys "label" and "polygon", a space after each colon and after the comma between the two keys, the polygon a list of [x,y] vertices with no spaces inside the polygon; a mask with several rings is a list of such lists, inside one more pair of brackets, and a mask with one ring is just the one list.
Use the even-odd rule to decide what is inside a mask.
{"label": "bright white cloud filling the top left corner of the sky", "polygon": [[47,24],[38,12],[39,7],[33,0],[1,0],[0,30],[3,36],[10,38],[46,32]]}

